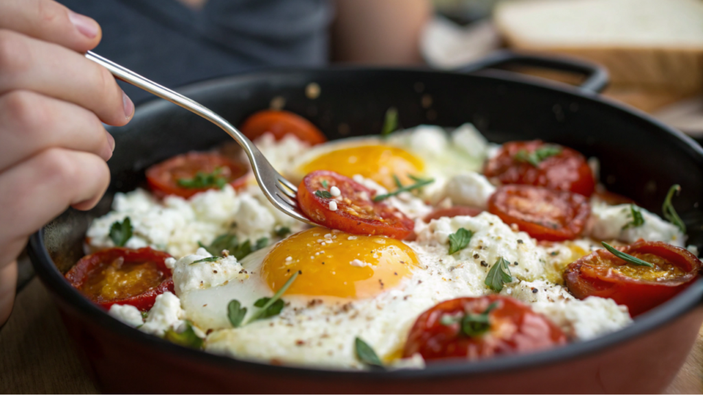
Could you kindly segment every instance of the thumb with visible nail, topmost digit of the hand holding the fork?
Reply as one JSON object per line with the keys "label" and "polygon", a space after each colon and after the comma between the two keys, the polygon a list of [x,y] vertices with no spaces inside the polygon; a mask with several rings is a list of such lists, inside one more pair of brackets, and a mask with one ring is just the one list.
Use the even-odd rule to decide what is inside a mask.
{"label": "thumb with visible nail, topmost digit of the hand holding the fork", "polygon": [[84,53],[101,39],[98,22],[53,0],[0,1],[0,29],[14,30]]}

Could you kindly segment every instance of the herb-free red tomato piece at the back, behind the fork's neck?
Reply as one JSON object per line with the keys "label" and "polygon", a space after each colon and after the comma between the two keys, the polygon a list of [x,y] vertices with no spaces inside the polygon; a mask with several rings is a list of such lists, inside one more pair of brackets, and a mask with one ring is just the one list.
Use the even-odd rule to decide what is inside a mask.
{"label": "herb-free red tomato piece at the back, behind the fork's neck", "polygon": [[253,115],[245,119],[239,129],[251,141],[266,132],[273,134],[276,140],[280,140],[286,134],[292,134],[300,141],[307,141],[310,145],[327,141],[322,131],[317,129],[314,124],[290,111],[262,110],[254,112]]}

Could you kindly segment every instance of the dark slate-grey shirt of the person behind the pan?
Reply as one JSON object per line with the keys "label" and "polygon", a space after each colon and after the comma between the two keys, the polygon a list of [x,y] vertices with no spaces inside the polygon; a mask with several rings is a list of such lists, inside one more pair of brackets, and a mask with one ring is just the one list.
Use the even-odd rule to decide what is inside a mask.
{"label": "dark slate-grey shirt of the person behind the pan", "polygon": [[[328,61],[333,8],[326,0],[59,0],[101,24],[95,52],[165,86],[265,66]],[[152,98],[122,84],[137,103]]]}

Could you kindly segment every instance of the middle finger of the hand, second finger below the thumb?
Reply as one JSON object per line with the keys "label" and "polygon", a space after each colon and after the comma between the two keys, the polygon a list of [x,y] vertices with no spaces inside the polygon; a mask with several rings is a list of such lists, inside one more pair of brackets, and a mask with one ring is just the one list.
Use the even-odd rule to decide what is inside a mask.
{"label": "middle finger of the hand, second finger below the thumb", "polygon": [[[109,136],[109,137],[108,137]],[[115,141],[93,112],[32,91],[0,96],[0,171],[52,147],[108,160]]]}

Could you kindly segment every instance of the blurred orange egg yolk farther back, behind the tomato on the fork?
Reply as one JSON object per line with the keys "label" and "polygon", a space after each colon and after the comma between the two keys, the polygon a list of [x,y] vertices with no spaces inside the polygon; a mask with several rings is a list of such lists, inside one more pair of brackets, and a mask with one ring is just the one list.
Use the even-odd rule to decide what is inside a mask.
{"label": "blurred orange egg yolk farther back, behind the tomato on the fork", "polygon": [[333,150],[302,165],[299,171],[309,174],[315,170],[336,171],[347,177],[361,174],[386,189],[397,188],[393,176],[403,185],[413,183],[408,174],[419,176],[424,169],[422,160],[401,148],[388,145],[360,145],[358,147]]}

